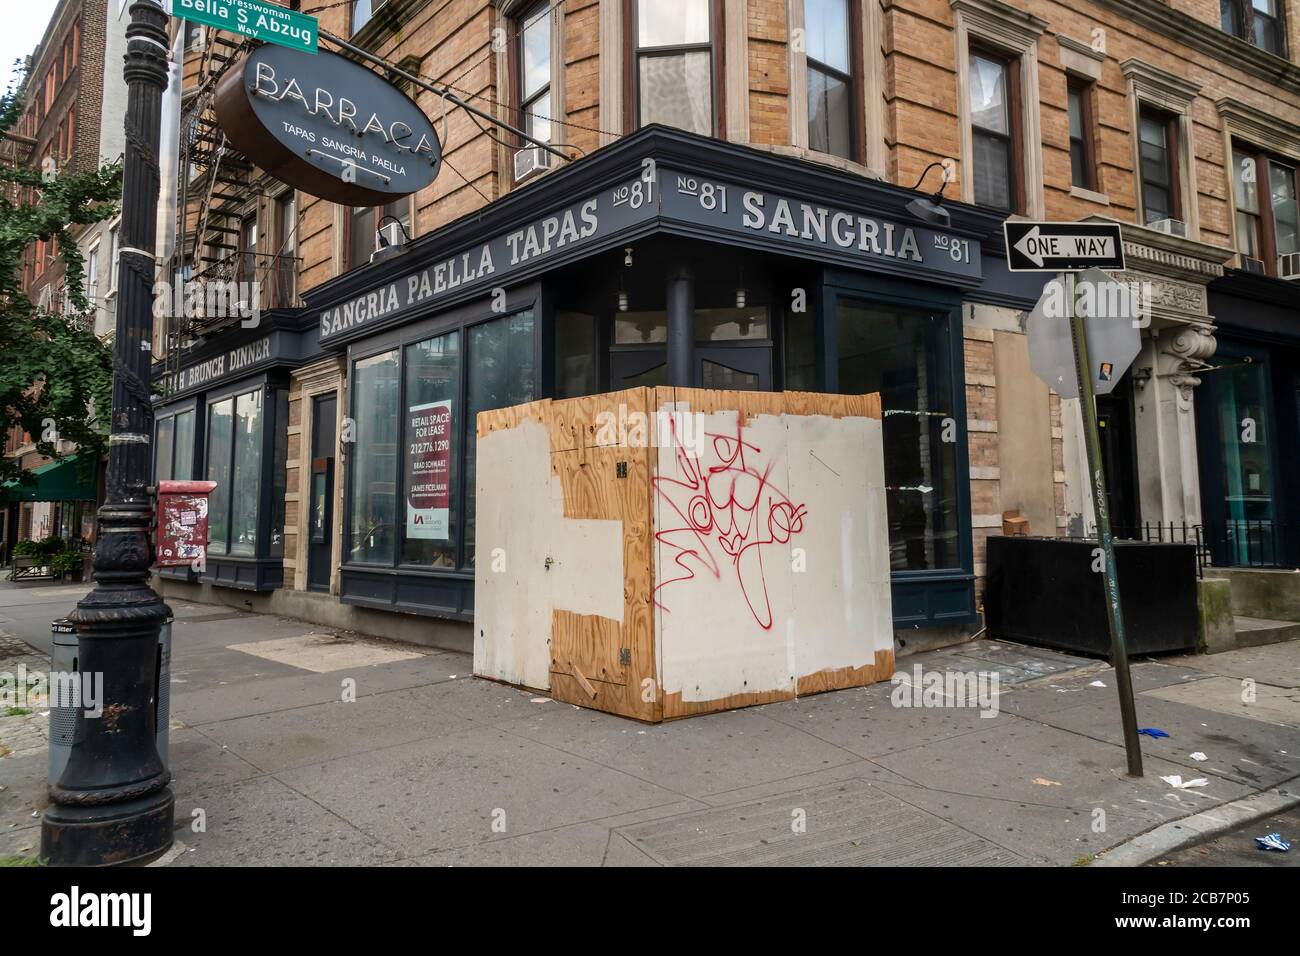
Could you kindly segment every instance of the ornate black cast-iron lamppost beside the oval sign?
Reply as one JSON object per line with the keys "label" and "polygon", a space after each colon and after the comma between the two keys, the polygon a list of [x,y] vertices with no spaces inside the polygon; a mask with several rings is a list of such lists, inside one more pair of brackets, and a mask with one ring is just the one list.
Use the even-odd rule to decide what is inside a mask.
{"label": "ornate black cast-iron lamppost beside the oval sign", "polygon": [[78,708],[72,756],[49,787],[40,855],[55,865],[139,862],[172,845],[170,774],[155,743],[159,630],[169,611],[148,584],[153,502],[147,490],[166,22],[155,0],[131,4],[107,498],[95,536],[95,589],[69,615],[81,644],[78,670],[101,680],[103,713],[88,717]]}

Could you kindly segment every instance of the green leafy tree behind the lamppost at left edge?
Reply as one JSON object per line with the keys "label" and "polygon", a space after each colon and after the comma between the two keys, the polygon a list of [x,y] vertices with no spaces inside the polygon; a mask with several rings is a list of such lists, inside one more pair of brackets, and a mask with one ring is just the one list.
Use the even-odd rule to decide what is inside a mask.
{"label": "green leafy tree behind the lamppost at left edge", "polygon": [[[22,117],[26,78],[0,96],[0,134]],[[21,425],[36,450],[58,457],[57,440],[74,442],[84,458],[104,454],[99,419],[112,405],[113,356],[94,332],[86,299],[84,263],[73,229],[117,215],[121,164],[91,172],[0,166],[0,427]],[[22,289],[23,255],[38,241],[57,241],[72,311],[40,308]],[[30,481],[20,463],[0,458],[3,483]]]}

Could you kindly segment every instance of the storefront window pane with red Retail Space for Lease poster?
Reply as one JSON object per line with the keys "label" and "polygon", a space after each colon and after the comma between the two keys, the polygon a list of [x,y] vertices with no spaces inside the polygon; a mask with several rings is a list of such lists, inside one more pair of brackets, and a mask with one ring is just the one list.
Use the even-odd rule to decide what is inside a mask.
{"label": "storefront window pane with red Retail Space for Lease poster", "polygon": [[406,349],[406,537],[402,562],[455,568],[460,334]]}

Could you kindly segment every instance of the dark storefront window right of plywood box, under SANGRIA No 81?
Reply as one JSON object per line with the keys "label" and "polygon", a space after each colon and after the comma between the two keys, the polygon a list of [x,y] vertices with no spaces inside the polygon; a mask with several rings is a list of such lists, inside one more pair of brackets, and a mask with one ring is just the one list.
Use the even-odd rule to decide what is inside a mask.
{"label": "dark storefront window right of plywood box, under SANGRIA No 81", "polygon": [[880,393],[889,566],[957,567],[957,442],[944,315],[841,299],[840,388]]}

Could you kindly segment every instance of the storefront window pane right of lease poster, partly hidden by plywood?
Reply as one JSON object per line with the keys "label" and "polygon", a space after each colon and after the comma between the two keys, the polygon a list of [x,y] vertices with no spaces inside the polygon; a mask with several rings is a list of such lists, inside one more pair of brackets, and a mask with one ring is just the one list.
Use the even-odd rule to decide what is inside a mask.
{"label": "storefront window pane right of lease poster, partly hidden by plywood", "polygon": [[[478,412],[533,401],[533,313],[497,319],[469,329],[467,428]],[[465,447],[465,566],[474,563],[474,445]]]}

